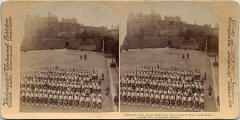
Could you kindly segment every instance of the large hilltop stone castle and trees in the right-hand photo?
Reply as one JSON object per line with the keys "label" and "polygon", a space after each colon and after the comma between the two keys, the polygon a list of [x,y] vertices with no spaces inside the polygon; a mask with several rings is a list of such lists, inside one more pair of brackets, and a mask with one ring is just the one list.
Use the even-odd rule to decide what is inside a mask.
{"label": "large hilltop stone castle and trees in the right-hand photo", "polygon": [[122,49],[158,47],[203,49],[206,43],[205,36],[213,34],[213,30],[218,31],[218,28],[213,29],[210,25],[196,23],[188,24],[182,21],[180,16],[161,16],[154,10],[151,10],[150,14],[129,13],[127,35]]}

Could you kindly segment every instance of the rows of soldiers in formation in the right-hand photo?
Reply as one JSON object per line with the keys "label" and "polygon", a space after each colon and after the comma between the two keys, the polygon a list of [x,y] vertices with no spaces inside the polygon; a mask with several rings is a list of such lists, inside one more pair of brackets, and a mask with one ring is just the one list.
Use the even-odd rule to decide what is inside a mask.
{"label": "rows of soldiers in formation in the right-hand photo", "polygon": [[138,66],[121,75],[121,104],[203,111],[206,73],[176,66]]}

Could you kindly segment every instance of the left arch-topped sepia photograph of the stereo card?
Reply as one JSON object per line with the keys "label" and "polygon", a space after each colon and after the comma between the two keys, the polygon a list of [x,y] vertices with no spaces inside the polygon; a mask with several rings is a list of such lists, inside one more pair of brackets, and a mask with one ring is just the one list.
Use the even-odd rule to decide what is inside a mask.
{"label": "left arch-topped sepia photograph of the stereo card", "polygon": [[118,20],[85,2],[31,8],[22,20],[20,112],[117,112]]}

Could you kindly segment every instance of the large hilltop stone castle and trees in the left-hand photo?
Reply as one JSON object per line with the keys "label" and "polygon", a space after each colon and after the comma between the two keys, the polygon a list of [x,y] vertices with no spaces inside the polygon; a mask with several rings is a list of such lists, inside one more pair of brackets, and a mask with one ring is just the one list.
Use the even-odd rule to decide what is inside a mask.
{"label": "large hilltop stone castle and trees in the left-hand photo", "polygon": [[[107,38],[118,40],[106,27],[84,26],[76,18],[61,18],[52,15],[27,16],[21,50],[81,49],[102,50]],[[109,37],[106,37],[109,36]],[[106,40],[107,41],[107,40]]]}

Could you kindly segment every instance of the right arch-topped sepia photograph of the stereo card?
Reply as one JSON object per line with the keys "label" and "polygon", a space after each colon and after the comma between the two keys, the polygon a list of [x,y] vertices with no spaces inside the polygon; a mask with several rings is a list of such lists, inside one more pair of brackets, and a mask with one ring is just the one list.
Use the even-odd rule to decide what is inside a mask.
{"label": "right arch-topped sepia photograph of the stereo card", "polygon": [[218,17],[206,6],[133,6],[120,23],[120,111],[220,111],[218,43]]}

